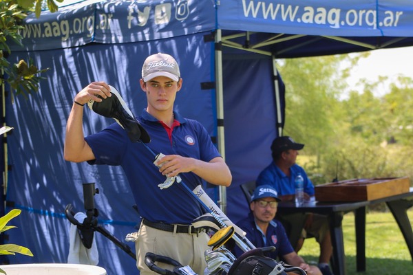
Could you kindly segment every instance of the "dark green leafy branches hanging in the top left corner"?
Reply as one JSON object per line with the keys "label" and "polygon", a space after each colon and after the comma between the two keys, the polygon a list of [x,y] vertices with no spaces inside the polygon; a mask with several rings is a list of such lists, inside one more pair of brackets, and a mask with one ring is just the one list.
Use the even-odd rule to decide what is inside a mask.
{"label": "dark green leafy branches hanging in the top left corner", "polygon": [[[39,80],[42,79],[39,74],[47,69],[39,69],[32,60],[21,60],[17,64],[9,63],[7,57],[11,51],[8,43],[22,45],[20,31],[23,28],[23,20],[30,12],[35,12],[36,17],[39,17],[41,5],[41,0],[0,1],[0,84],[8,83],[17,95],[22,94],[25,97],[32,91],[38,91]],[[54,0],[47,0],[47,7],[51,12],[56,12],[58,9]]]}

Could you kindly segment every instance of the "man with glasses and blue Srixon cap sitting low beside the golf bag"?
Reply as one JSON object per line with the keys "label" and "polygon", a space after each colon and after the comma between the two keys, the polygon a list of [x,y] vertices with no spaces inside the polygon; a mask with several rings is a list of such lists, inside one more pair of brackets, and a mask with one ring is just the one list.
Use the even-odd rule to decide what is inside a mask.
{"label": "man with glasses and blue Srixon cap sitting low beside the golf bag", "polygon": [[[288,265],[301,267],[307,274],[321,275],[318,267],[308,265],[304,259],[297,255],[288,240],[282,223],[275,220],[277,213],[277,191],[271,186],[259,186],[255,189],[248,217],[238,221],[237,225],[246,232],[246,237],[257,248],[274,246],[275,251],[267,252],[272,259],[282,257]],[[240,248],[234,248],[235,256],[242,255]]]}

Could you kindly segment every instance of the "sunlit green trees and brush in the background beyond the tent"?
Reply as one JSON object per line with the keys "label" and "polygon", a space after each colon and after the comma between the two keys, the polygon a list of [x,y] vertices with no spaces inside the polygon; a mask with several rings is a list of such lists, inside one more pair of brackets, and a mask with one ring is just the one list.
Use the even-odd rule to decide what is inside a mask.
{"label": "sunlit green trees and brush in the background beyond the tent", "polygon": [[280,62],[286,83],[284,135],[306,144],[300,153],[315,184],[335,177],[413,176],[413,80],[400,76],[386,85],[380,76],[374,83],[362,80],[361,91],[349,91],[348,73],[366,56]]}

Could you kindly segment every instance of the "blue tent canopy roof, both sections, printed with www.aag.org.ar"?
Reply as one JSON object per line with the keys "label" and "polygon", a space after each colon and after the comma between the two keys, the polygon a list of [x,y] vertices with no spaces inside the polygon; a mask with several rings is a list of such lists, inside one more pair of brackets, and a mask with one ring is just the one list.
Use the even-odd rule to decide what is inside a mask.
{"label": "blue tent canopy roof, both sections, printed with www.aag.org.ar", "polygon": [[223,46],[276,58],[413,45],[408,0],[84,1],[43,12],[39,19],[32,14],[25,23],[25,50],[152,41],[218,29]]}

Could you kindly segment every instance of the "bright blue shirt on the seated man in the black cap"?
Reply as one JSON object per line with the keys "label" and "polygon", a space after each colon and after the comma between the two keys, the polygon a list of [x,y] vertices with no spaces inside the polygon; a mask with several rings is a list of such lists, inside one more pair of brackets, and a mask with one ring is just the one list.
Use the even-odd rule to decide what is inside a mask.
{"label": "bright blue shirt on the seated man in the black cap", "polygon": [[301,174],[304,179],[304,192],[310,196],[314,196],[315,191],[313,182],[308,179],[306,171],[297,164],[290,167],[290,177],[287,177],[275,162],[271,162],[271,164],[258,175],[256,182],[257,186],[265,184],[273,186],[280,196],[295,195],[294,181],[298,174]]}

